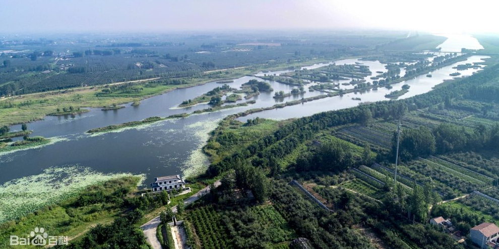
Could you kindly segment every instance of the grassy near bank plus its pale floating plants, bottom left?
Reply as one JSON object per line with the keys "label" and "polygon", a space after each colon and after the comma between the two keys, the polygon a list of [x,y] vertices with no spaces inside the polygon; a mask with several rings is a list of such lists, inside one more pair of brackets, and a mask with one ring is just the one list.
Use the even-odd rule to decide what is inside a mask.
{"label": "grassy near bank plus its pale floating plants, bottom left", "polygon": [[[52,178],[61,173],[73,179],[68,186],[57,186],[57,193],[47,192],[53,186]],[[50,176],[54,174],[54,176]],[[80,176],[78,176],[80,174]],[[29,187],[37,182],[37,187]],[[144,180],[141,175],[114,174],[103,175],[78,167],[70,169],[52,169],[42,176],[21,179],[27,183],[20,188],[20,183],[8,183],[0,186],[0,200],[6,203],[0,207],[0,247],[10,248],[9,236],[23,237],[35,226],[44,227],[50,235],[68,236],[69,240],[82,236],[97,224],[108,224],[126,211],[120,202],[99,200],[98,198],[121,199],[121,195],[137,192],[137,186]],[[18,186],[19,185],[19,186]],[[16,189],[19,187],[19,189]],[[33,187],[33,186],[31,186]],[[21,190],[23,189],[23,190]],[[33,194],[37,194],[35,197]],[[29,195],[33,195],[30,197]],[[33,248],[32,246],[15,246]]]}

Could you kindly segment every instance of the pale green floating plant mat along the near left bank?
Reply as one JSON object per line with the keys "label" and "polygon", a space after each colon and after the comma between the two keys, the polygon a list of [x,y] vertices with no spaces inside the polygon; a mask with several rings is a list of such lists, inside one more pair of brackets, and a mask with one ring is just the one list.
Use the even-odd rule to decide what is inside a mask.
{"label": "pale green floating plant mat along the near left bank", "polygon": [[[89,185],[124,176],[132,174],[102,174],[89,168],[70,165],[49,168],[39,175],[6,182],[0,185],[0,223],[74,197]],[[140,177],[142,182],[144,176]]]}

